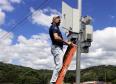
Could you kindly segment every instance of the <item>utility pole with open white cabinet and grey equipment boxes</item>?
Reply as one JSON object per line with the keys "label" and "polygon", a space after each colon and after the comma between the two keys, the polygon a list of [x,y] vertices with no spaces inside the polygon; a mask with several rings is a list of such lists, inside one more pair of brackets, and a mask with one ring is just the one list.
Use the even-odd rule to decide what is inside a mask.
{"label": "utility pole with open white cabinet and grey equipment boxes", "polygon": [[82,0],[77,0],[77,9],[62,1],[62,21],[63,28],[69,32],[69,41],[76,42],[76,84],[80,84],[80,60],[81,53],[88,53],[93,40],[92,18],[82,17]]}

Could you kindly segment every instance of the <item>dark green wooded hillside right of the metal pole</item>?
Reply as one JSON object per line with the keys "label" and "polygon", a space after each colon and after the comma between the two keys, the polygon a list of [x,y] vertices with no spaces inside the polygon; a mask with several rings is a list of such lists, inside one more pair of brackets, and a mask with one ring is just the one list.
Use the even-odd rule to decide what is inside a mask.
{"label": "dark green wooded hillside right of the metal pole", "polygon": [[94,66],[81,71],[81,81],[107,81],[116,84],[116,66]]}

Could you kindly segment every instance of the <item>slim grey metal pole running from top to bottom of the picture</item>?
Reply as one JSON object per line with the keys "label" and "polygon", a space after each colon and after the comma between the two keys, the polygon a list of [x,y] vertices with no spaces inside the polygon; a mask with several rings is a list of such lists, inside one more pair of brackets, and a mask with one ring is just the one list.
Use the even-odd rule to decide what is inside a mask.
{"label": "slim grey metal pole running from top to bottom of the picture", "polygon": [[[79,29],[81,29],[81,11],[82,11],[82,0],[77,0],[79,10]],[[80,60],[81,60],[81,33],[78,34],[77,39],[77,53],[76,53],[76,84],[80,84]]]}

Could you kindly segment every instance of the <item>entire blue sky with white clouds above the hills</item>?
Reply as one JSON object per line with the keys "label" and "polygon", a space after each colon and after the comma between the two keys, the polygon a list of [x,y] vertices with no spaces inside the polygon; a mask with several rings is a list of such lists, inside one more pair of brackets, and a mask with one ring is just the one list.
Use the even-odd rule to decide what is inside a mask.
{"label": "entire blue sky with white clouds above the hills", "polygon": [[[0,0],[1,62],[34,69],[54,68],[48,29],[52,17],[62,14],[62,0],[48,0],[39,7],[44,1],[47,2]],[[77,7],[76,0],[64,1]],[[116,0],[82,0],[82,3],[82,16],[93,18],[94,32],[90,52],[81,56],[81,68],[116,65]],[[62,34],[65,37],[63,31]],[[75,63],[76,56],[69,69],[75,70]]]}

